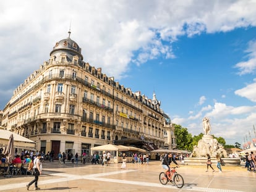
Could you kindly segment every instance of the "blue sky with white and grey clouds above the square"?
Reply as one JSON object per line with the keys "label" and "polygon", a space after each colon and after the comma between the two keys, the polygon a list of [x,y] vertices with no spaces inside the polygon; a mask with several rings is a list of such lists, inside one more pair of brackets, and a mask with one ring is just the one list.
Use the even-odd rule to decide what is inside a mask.
{"label": "blue sky with white and grey clouds above the square", "polygon": [[[207,3],[206,3],[207,2]],[[161,101],[189,133],[256,138],[256,0],[1,1],[0,109],[70,38],[83,61]]]}

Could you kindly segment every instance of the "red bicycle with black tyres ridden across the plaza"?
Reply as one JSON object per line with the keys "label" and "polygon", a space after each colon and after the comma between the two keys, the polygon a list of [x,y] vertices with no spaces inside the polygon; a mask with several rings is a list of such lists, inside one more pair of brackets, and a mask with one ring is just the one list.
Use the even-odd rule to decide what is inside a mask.
{"label": "red bicycle with black tyres ridden across the plaza", "polygon": [[168,170],[166,174],[164,172],[161,172],[159,174],[160,183],[162,183],[163,185],[166,185],[168,182],[172,182],[177,186],[177,188],[182,188],[184,186],[183,177],[176,172],[175,170],[176,167],[171,167],[171,168],[172,169]]}

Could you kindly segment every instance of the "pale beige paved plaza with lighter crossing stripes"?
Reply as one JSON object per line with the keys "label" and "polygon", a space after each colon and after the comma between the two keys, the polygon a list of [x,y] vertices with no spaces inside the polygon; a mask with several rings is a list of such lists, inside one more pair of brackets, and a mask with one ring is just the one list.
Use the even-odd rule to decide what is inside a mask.
{"label": "pale beige paved plaza with lighter crossing stripes", "polygon": [[[184,187],[176,188],[173,183],[161,185],[159,173],[163,171],[160,161],[151,161],[149,165],[121,164],[107,167],[92,164],[61,164],[43,162],[43,175],[40,176],[40,191],[119,191],[119,192],[161,192],[161,191],[256,191],[256,173],[248,172],[244,167],[223,167],[223,172],[205,172],[205,166],[181,165],[177,172],[184,178]],[[0,177],[0,191],[27,191],[25,187],[33,180],[30,175],[18,175],[11,178]],[[35,187],[30,186],[29,191]]]}

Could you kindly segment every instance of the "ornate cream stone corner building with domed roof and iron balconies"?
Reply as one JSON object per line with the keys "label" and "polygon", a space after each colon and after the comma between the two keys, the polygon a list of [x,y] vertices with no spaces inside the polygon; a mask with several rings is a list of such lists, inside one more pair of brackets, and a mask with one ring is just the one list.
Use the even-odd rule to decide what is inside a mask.
{"label": "ornate cream stone corner building with domed roof and iron balconies", "polygon": [[14,90],[2,117],[7,130],[36,141],[38,151],[53,149],[56,158],[59,151],[90,154],[91,147],[108,143],[163,147],[165,121],[155,93],[153,99],[134,93],[83,62],[70,31]]}

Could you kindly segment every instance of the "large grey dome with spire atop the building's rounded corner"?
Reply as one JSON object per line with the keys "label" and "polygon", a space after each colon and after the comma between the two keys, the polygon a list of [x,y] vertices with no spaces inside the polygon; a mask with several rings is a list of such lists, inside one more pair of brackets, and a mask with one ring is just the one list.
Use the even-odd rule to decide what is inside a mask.
{"label": "large grey dome with spire atop the building's rounded corner", "polygon": [[69,36],[61,41],[58,41],[53,47],[53,51],[50,52],[50,56],[56,56],[56,58],[60,57],[61,54],[66,53],[68,61],[72,61],[73,56],[78,56],[79,60],[83,60],[83,56],[81,54],[81,48],[75,41],[70,39],[70,31]]}

